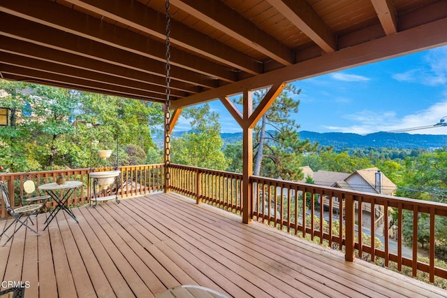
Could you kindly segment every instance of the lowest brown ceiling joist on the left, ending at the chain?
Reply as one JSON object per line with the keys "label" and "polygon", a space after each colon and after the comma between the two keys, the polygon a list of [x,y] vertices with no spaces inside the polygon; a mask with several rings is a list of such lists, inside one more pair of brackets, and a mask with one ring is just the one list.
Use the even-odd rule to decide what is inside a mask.
{"label": "lowest brown ceiling joist on the left, ending at the chain", "polygon": [[23,78],[29,78],[34,80],[45,80],[48,85],[60,84],[60,85],[70,85],[73,89],[78,90],[80,88],[87,90],[94,90],[92,92],[103,93],[103,92],[117,92],[119,94],[124,94],[126,97],[133,98],[142,97],[146,100],[157,99],[161,100],[160,94],[155,94],[152,92],[140,92],[138,90],[131,90],[126,87],[117,87],[103,84],[94,83],[88,80],[82,80],[78,78],[70,78],[68,76],[61,76],[54,73],[46,73],[45,71],[36,71],[34,69],[26,69],[18,66],[11,66],[0,64],[0,69],[3,74],[10,74],[15,76],[20,76]]}

